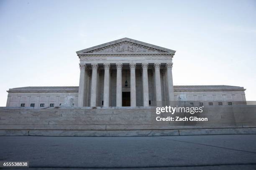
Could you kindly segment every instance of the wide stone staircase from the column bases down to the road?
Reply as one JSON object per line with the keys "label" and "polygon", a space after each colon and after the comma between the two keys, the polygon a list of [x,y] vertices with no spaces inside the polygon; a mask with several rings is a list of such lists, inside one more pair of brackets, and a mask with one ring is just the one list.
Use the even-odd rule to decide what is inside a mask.
{"label": "wide stone staircase from the column bases down to the road", "polygon": [[[156,115],[155,107],[0,107],[0,135],[158,136],[256,133],[254,123],[236,121],[231,110],[218,114],[210,114],[210,110],[205,110],[201,115],[194,116],[207,116],[210,121],[192,123],[156,121],[157,116],[173,115]],[[181,115],[184,116],[189,114]]]}

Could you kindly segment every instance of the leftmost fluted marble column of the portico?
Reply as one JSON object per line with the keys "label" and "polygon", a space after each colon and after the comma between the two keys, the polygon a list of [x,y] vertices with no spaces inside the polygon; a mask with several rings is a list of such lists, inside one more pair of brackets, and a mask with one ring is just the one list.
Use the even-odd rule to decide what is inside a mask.
{"label": "leftmost fluted marble column of the portico", "polygon": [[84,83],[85,83],[85,64],[79,64],[80,67],[80,78],[79,78],[79,90],[78,90],[78,107],[84,106]]}

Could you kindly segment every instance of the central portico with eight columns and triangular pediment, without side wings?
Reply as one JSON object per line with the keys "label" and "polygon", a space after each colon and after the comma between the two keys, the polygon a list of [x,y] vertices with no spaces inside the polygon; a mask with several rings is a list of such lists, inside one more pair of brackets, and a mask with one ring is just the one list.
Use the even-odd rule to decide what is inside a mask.
{"label": "central portico with eight columns and triangular pediment, without side wings", "polygon": [[123,92],[130,92],[126,100],[130,98],[132,107],[174,101],[174,54],[174,50],[129,38],[78,51],[78,106],[121,107]]}

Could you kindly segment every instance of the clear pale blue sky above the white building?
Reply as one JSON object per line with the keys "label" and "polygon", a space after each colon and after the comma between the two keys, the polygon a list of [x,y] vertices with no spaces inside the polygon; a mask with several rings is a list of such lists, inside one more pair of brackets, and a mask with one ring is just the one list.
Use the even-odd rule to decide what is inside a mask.
{"label": "clear pale blue sky above the white building", "polygon": [[176,50],[174,85],[256,100],[256,0],[0,0],[0,106],[9,88],[78,86],[75,52],[123,37]]}

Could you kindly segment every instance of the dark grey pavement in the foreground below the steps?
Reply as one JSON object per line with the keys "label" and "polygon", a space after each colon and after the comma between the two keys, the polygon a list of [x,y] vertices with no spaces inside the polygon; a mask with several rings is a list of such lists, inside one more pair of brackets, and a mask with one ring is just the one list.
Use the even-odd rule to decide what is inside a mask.
{"label": "dark grey pavement in the foreground below the steps", "polygon": [[0,136],[0,161],[31,168],[256,169],[256,135]]}

